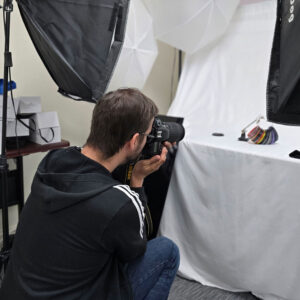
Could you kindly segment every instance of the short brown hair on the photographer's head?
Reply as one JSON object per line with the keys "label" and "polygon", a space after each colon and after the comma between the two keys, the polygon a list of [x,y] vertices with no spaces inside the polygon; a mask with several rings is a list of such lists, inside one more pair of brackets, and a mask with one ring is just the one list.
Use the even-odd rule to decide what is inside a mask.
{"label": "short brown hair on the photographer's head", "polygon": [[157,113],[155,103],[137,89],[109,92],[94,108],[87,145],[109,158],[135,133],[144,133]]}

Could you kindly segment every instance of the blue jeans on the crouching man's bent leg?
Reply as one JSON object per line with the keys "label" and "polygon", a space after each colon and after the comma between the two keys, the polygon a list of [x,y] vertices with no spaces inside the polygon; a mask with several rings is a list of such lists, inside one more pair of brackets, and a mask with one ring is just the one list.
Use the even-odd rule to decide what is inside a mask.
{"label": "blue jeans on the crouching man's bent leg", "polygon": [[174,242],[158,237],[148,242],[145,254],[127,266],[134,300],[166,300],[179,267]]}

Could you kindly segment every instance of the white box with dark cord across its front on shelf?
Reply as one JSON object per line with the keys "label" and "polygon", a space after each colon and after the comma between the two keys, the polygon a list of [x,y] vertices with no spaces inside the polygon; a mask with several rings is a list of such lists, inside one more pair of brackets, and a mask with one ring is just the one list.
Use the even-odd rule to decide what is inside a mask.
{"label": "white box with dark cord across its front on shelf", "polygon": [[61,142],[60,125],[57,112],[40,112],[30,117],[30,127],[35,129],[30,132],[29,139],[40,145]]}

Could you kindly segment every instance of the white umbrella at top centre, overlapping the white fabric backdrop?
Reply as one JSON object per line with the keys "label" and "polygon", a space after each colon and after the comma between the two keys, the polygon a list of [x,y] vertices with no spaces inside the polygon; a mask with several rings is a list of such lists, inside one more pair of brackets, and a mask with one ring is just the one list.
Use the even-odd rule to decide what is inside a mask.
{"label": "white umbrella at top centre, overlapping the white fabric backdrop", "polygon": [[144,0],[153,18],[155,37],[187,53],[219,38],[239,0]]}

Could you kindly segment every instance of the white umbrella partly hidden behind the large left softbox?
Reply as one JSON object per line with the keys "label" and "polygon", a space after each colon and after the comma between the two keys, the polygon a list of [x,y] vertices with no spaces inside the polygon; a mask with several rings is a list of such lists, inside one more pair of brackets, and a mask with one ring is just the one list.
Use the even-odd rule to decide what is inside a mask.
{"label": "white umbrella partly hidden behind the large left softbox", "polygon": [[108,90],[143,88],[156,57],[152,18],[141,0],[131,0],[123,49]]}

